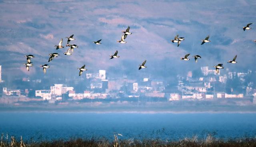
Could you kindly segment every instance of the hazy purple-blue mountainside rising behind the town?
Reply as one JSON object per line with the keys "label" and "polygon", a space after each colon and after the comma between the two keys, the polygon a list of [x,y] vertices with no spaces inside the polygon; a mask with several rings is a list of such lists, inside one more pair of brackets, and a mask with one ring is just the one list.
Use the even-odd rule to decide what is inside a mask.
{"label": "hazy purple-blue mountainside rising behind the town", "polygon": [[[256,1],[253,0],[0,0],[0,65],[4,76],[12,77],[70,77],[77,76],[77,68],[86,64],[87,73],[99,69],[108,74],[119,73],[168,77],[218,63],[234,71],[255,70]],[[248,23],[252,29],[243,31]],[[116,42],[122,30],[130,26],[132,35],[127,43]],[[71,56],[68,48],[56,51],[61,38],[74,34],[79,48]],[[180,47],[170,42],[175,35],[185,37]],[[201,39],[210,35],[210,43]],[[102,39],[101,45],[92,41]],[[118,50],[120,58],[109,60]],[[60,56],[49,63],[44,75],[41,64],[48,64],[48,54]],[[190,61],[180,57],[191,53]],[[22,63],[24,55],[33,54],[30,71]],[[192,55],[201,55],[196,64]],[[236,65],[227,64],[238,55]],[[147,69],[138,65],[147,59]]]}

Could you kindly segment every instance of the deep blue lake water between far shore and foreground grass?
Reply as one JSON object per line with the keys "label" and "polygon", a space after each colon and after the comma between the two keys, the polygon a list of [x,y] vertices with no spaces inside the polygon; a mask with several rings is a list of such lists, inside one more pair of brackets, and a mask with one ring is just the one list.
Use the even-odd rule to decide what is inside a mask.
{"label": "deep blue lake water between far shore and foreground grass", "polygon": [[179,140],[208,133],[220,139],[256,136],[256,114],[0,113],[0,133],[26,140],[106,137]]}

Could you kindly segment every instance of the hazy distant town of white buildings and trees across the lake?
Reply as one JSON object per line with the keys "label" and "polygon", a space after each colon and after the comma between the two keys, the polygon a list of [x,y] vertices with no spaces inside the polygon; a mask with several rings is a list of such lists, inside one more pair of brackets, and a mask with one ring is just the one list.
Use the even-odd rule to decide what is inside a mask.
{"label": "hazy distant town of white buildings and trees across the lake", "polygon": [[[86,100],[111,102],[126,100],[136,102],[177,102],[209,101],[224,99],[245,101],[244,105],[256,105],[255,71],[231,72],[223,69],[201,67],[197,73],[188,71],[186,76],[177,75],[174,82],[154,80],[149,77],[129,79],[127,76],[107,78],[105,70],[98,73],[84,72],[83,77],[69,84],[43,84],[41,79],[28,77],[15,79],[12,89],[1,78],[0,66],[0,104],[19,105],[29,102],[86,102]],[[194,76],[196,75],[196,76]],[[18,82],[17,82],[18,81]],[[66,83],[69,83],[66,81]],[[71,84],[71,83],[70,83]],[[235,85],[235,86],[234,86]],[[93,101],[94,100],[94,101]]]}

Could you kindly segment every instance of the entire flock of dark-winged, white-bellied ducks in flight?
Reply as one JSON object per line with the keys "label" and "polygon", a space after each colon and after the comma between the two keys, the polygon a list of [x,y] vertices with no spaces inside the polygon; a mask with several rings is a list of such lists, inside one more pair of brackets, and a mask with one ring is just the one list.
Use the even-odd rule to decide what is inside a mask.
{"label": "entire flock of dark-winged, white-bellied ducks in flight", "polygon": [[[247,24],[245,27],[243,27],[243,30],[245,31],[246,29],[251,29],[251,27],[250,27],[251,24],[252,24],[252,23]],[[127,42],[125,41],[126,37],[127,37],[128,35],[131,35],[131,34],[132,34],[132,33],[130,33],[130,26],[128,26],[128,28],[127,28],[125,31],[122,31],[122,33],[124,33],[124,34],[122,34],[121,39],[118,40],[117,42],[118,42],[118,43],[127,43]],[[69,48],[68,48],[68,50],[67,50],[66,52],[64,52],[64,55],[72,55],[72,53],[73,53],[73,51],[74,51],[74,48],[78,48],[78,46],[75,45],[75,44],[70,45],[70,41],[76,40],[76,39],[73,38],[73,37],[74,37],[74,34],[71,35],[70,37],[66,37],[66,38],[68,39],[68,40],[67,40],[67,45],[66,45],[66,47],[69,47]],[[202,39],[201,45],[203,45],[204,43],[210,42],[209,38],[210,38],[210,36],[208,35],[205,39]],[[100,39],[100,40],[98,40],[98,41],[93,41],[93,43],[96,44],[96,45],[100,45],[100,44],[102,44],[102,43],[100,43],[101,40],[102,40],[102,39]],[[181,43],[182,41],[184,41],[184,40],[185,40],[184,37],[179,37],[179,35],[176,35],[176,36],[174,37],[174,39],[172,39],[172,40],[170,40],[170,41],[171,41],[172,43],[178,43],[177,46],[179,47],[179,46],[180,46],[180,43]],[[61,49],[61,48],[64,48],[64,46],[62,46],[62,42],[63,42],[63,39],[60,40],[60,42],[59,42],[58,45],[55,45],[55,46],[54,46],[54,47],[56,47],[56,50]],[[254,42],[256,42],[256,40],[254,40]],[[114,55],[110,55],[110,59],[119,58],[120,56],[118,56],[117,54],[118,54],[118,51],[116,51],[116,52],[114,53]],[[184,61],[189,61],[189,60],[190,60],[190,59],[188,58],[189,55],[190,55],[190,54],[187,54],[187,55],[184,56],[184,58],[181,57],[180,59],[181,59],[181,60],[184,60]],[[58,53],[50,53],[49,56],[50,56],[50,58],[49,58],[48,62],[52,61],[55,57],[58,57],[59,54],[58,54]],[[29,67],[32,66],[31,58],[34,58],[34,55],[25,55],[24,57],[26,57],[27,63],[23,63],[23,64],[26,65],[26,69],[29,71]],[[200,56],[200,55],[194,55],[193,57],[194,57],[196,63],[198,62],[198,58],[201,59],[201,56]],[[237,63],[237,62],[236,62],[236,57],[237,57],[237,55],[234,57],[233,60],[228,61],[228,63],[233,63],[233,64]],[[145,60],[141,65],[139,65],[139,70],[140,70],[140,69],[143,69],[143,68],[146,68],[146,66],[145,66],[146,61],[147,61],[147,60]],[[50,66],[49,66],[48,64],[40,65],[40,67],[43,68],[44,74],[46,73],[46,69],[50,68]],[[223,64],[215,65],[214,68],[216,69],[216,73],[219,73],[219,70],[220,70],[220,69],[224,69]],[[81,68],[78,68],[78,70],[79,70],[79,76],[82,74],[83,71],[87,71],[87,69],[85,68],[85,65],[83,65]]]}

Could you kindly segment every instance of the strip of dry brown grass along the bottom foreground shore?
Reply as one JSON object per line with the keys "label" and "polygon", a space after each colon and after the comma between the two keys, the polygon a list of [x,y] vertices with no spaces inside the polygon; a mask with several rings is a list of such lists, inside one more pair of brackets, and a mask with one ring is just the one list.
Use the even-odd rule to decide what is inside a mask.
{"label": "strip of dry brown grass along the bottom foreground shore", "polygon": [[[114,133],[114,140],[100,139],[70,139],[40,141],[34,143],[24,143],[22,137],[16,141],[12,136],[8,142],[8,137],[2,134],[0,147],[256,147],[256,138],[244,138],[239,140],[222,141],[208,135],[206,139],[200,140],[197,136],[185,138],[180,141],[162,141],[160,139],[128,139],[119,140],[120,134]],[[26,144],[26,145],[25,145]]]}

